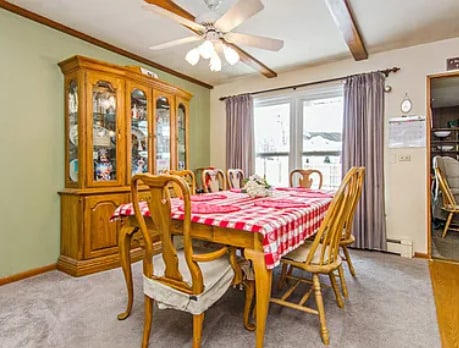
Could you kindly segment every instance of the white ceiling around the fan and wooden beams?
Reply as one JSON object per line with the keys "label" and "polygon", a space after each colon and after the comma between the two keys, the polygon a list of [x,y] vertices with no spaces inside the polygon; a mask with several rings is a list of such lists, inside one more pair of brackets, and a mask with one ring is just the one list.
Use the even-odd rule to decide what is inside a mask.
{"label": "white ceiling around the fan and wooden beams", "polygon": [[[224,13],[236,0],[223,0]],[[190,36],[189,30],[142,8],[143,0],[11,0],[53,21],[145,57],[200,81],[217,85],[258,74],[244,63],[224,63],[211,72],[207,61],[189,65],[184,57],[198,43],[161,51],[148,47]],[[197,16],[206,12],[203,0],[176,0]],[[284,40],[279,52],[242,47],[279,72],[350,58],[351,54],[324,0],[262,0],[265,8],[234,32]],[[368,54],[459,37],[458,0],[349,0]],[[459,51],[458,51],[459,55]]]}

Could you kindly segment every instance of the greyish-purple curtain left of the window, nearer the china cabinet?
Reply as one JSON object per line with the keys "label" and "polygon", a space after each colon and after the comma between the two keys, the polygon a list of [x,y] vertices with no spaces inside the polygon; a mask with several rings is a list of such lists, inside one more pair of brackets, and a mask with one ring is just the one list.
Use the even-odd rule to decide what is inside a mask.
{"label": "greyish-purple curtain left of the window, nearer the china cabinet", "polygon": [[253,99],[249,94],[229,97],[226,102],[226,168],[238,168],[245,176],[255,169]]}

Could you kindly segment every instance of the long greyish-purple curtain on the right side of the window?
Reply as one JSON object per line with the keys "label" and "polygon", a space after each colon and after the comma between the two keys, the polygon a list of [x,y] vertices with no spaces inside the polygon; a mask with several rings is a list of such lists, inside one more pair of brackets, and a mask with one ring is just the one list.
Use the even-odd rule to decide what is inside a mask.
{"label": "long greyish-purple curtain on the right side of the window", "polygon": [[350,76],[344,86],[343,175],[352,166],[366,168],[352,226],[353,246],[361,249],[386,250],[384,80],[372,72]]}

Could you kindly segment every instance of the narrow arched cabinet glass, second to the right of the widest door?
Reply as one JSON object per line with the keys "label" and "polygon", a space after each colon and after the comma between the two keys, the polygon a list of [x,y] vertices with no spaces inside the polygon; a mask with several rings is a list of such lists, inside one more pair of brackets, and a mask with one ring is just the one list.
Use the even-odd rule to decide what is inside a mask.
{"label": "narrow arched cabinet glass, second to the right of the widest door", "polygon": [[171,169],[171,98],[155,96],[156,174]]}

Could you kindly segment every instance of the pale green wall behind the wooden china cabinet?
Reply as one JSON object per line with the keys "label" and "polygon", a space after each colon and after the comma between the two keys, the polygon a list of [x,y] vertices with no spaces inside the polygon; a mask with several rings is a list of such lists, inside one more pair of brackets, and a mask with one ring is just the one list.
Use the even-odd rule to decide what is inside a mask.
{"label": "pale green wall behind the wooden china cabinet", "polygon": [[[63,75],[79,54],[136,61],[0,9],[0,278],[57,262],[64,187]],[[191,168],[209,164],[210,91],[150,68],[193,94]]]}

